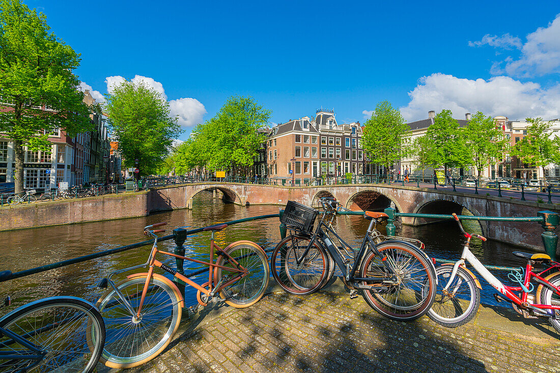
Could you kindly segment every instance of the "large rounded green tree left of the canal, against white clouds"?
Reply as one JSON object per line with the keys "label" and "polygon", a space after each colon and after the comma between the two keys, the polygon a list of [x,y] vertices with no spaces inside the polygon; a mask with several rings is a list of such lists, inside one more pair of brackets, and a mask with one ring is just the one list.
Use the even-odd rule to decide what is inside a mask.
{"label": "large rounded green tree left of the canal, against white clouds", "polygon": [[155,172],[183,132],[169,115],[169,103],[155,89],[129,81],[114,87],[106,100],[104,110],[125,166],[136,166],[138,159],[141,175]]}

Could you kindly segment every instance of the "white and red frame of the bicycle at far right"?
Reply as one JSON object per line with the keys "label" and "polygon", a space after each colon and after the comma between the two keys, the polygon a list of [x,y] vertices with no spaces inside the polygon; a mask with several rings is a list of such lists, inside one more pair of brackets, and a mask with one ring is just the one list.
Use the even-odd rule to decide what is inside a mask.
{"label": "white and red frame of the bicycle at far right", "polygon": [[[521,287],[521,286],[503,285],[502,282],[500,280],[498,280],[494,275],[492,275],[492,273],[490,273],[490,271],[488,271],[486,269],[486,267],[484,267],[484,265],[478,260],[478,258],[473,255],[473,253],[470,251],[470,249],[468,247],[469,240],[470,240],[470,238],[468,238],[467,244],[465,244],[464,247],[463,247],[463,253],[461,254],[461,259],[459,259],[459,261],[457,261],[455,263],[455,265],[453,266],[451,276],[449,278],[449,281],[447,281],[447,284],[446,284],[444,290],[447,290],[449,288],[451,282],[455,278],[455,275],[457,273],[457,269],[459,268],[459,266],[463,266],[465,264],[465,260],[466,260],[474,267],[475,270],[478,271],[478,273],[480,273],[480,276],[482,276],[484,278],[484,280],[488,281],[488,284],[492,285],[492,287],[494,287],[494,289],[499,291],[501,294],[507,296],[507,298],[509,298],[512,302],[516,303],[517,305],[521,305],[521,306],[528,305],[527,296],[528,296],[529,292],[525,291],[525,289],[527,289],[527,287],[529,286],[529,283],[531,282],[532,277],[535,277],[538,282],[540,282],[543,285],[546,285],[546,286],[550,287],[550,289],[554,290],[554,292],[557,295],[560,295],[560,287],[556,287],[556,286],[552,285],[549,281],[545,280],[545,278],[543,278],[541,276],[541,275],[543,275],[544,272],[548,272],[548,271],[552,270],[553,268],[560,267],[559,264],[556,264],[552,267],[546,268],[545,270],[543,270],[539,273],[534,273],[533,272],[533,266],[529,262],[527,264],[527,266],[525,267],[525,278],[524,278],[524,281],[523,281],[523,285],[524,285],[525,289],[523,289],[523,287]],[[514,291],[515,292],[521,292],[521,298],[519,298],[519,296],[514,294]],[[560,310],[560,306],[548,306],[548,305],[545,305],[545,304],[531,304],[531,306],[536,307],[536,308],[540,308],[540,309],[557,309],[557,310]]]}

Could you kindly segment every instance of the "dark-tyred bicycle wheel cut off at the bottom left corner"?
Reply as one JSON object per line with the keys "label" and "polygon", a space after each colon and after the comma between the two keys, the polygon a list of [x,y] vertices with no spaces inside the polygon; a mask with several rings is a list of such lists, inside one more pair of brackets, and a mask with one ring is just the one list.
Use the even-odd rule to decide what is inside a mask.
{"label": "dark-tyred bicycle wheel cut off at the bottom left corner", "polygon": [[42,360],[2,360],[2,354],[29,356],[21,342],[0,333],[0,372],[84,372],[95,369],[103,351],[105,325],[95,306],[73,296],[41,299],[0,319],[0,327],[44,351]]}

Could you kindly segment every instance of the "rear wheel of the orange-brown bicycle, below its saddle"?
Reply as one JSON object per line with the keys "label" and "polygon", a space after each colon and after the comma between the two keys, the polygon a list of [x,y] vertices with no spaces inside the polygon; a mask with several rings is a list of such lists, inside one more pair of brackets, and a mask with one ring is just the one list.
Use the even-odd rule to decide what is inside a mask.
{"label": "rear wheel of the orange-brown bicycle, below its saddle", "polygon": [[[255,304],[263,297],[270,280],[267,254],[257,244],[249,243],[232,245],[230,248],[226,248],[225,252],[242,267],[246,268],[249,271],[249,275],[220,290],[220,296],[226,300],[227,304],[235,308],[245,308]],[[224,255],[218,257],[216,264],[237,268]],[[239,274],[239,272],[228,271],[220,267],[217,267],[214,273],[214,284],[218,284],[218,281],[222,278],[222,284],[225,284],[229,279],[235,278]]]}

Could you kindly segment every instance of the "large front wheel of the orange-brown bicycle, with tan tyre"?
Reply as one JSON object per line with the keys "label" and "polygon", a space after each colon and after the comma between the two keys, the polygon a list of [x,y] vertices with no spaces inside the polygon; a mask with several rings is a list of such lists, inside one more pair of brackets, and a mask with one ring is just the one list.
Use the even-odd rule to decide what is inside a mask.
{"label": "large front wheel of the orange-brown bicycle, with tan tyre", "polygon": [[[116,285],[125,299],[138,309],[146,276]],[[100,360],[111,368],[130,368],[152,360],[171,342],[181,321],[180,299],[166,282],[152,277],[141,318],[136,320],[110,288],[97,301],[107,337]]]}

